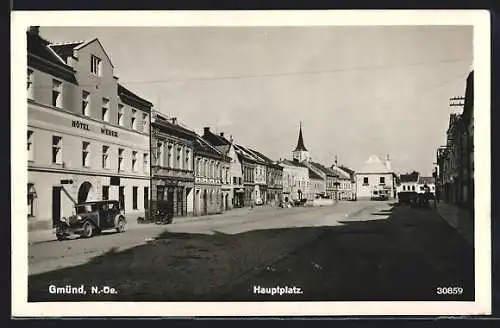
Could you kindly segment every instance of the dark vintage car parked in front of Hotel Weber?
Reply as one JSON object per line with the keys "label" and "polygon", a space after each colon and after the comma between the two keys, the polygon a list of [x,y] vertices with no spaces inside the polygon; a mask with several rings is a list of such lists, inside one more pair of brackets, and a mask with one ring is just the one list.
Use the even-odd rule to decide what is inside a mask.
{"label": "dark vintage car parked in front of Hotel Weber", "polygon": [[125,231],[127,220],[117,200],[105,200],[75,204],[73,214],[59,219],[56,225],[58,240],[78,234],[90,238],[103,230]]}

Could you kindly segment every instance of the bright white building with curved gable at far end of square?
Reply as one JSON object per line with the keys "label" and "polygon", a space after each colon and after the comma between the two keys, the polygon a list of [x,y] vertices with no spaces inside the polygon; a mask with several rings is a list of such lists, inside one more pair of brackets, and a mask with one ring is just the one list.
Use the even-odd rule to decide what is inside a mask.
{"label": "bright white building with curved gable at far end of square", "polygon": [[385,192],[389,198],[394,197],[393,171],[389,158],[381,160],[371,155],[356,172],[356,194],[359,199],[369,199],[374,192]]}

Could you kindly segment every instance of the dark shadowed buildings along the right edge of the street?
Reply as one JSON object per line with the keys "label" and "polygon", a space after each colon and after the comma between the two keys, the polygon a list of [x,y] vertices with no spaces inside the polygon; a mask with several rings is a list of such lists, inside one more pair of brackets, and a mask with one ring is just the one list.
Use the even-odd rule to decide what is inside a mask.
{"label": "dark shadowed buildings along the right edge of the street", "polygon": [[474,71],[467,76],[461,112],[450,114],[447,142],[436,152],[434,173],[439,197],[474,210]]}

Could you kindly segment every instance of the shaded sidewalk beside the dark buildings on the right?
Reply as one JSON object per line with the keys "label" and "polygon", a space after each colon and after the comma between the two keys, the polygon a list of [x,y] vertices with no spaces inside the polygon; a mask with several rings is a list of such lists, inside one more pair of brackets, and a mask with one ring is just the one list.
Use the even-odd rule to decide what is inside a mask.
{"label": "shaded sidewalk beside the dark buildings on the right", "polygon": [[438,214],[474,245],[474,219],[469,211],[456,205],[440,202],[436,206]]}

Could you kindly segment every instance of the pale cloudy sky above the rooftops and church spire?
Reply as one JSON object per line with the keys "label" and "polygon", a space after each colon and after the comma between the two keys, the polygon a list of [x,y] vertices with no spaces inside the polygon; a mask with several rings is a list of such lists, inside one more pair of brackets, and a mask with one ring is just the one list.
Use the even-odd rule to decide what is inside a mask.
{"label": "pale cloudy sky above the rooftops and church spire", "polygon": [[199,134],[209,126],[278,160],[302,122],[313,161],[389,154],[430,175],[451,97],[472,68],[469,26],[41,27],[99,38],[119,82]]}

